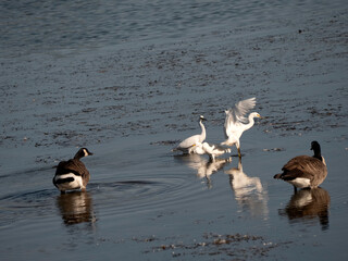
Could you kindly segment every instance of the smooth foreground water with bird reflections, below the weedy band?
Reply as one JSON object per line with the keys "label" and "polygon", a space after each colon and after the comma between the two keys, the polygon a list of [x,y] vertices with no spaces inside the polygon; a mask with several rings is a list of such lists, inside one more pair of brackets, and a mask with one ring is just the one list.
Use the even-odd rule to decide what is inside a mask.
{"label": "smooth foreground water with bird reflections, below the weedy band", "polygon": [[[300,252],[327,259],[335,251],[337,260],[345,259],[347,177],[339,162],[347,154],[336,152],[341,146],[322,146],[335,156],[326,157],[330,174],[322,188],[294,195],[272,174],[302,141],[261,135],[253,142],[248,137],[257,132],[249,132],[241,173],[235,157],[212,166],[206,157],[173,156],[171,146],[149,144],[166,135],[91,146],[95,156],[84,160],[92,174],[87,192],[60,195],[50,185],[53,171],[37,170],[41,189],[30,185],[0,200],[3,258],[58,260],[76,252],[98,259],[293,259]],[[294,149],[264,151],[288,144]],[[25,179],[30,175],[22,173]]]}

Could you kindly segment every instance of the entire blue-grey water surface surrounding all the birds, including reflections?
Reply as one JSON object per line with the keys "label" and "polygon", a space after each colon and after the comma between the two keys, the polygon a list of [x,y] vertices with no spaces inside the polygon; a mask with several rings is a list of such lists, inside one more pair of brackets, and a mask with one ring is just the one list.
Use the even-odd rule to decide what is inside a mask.
{"label": "entire blue-grey water surface surrounding all the birds, including reflections", "polygon": [[[139,13],[140,2],[84,5],[95,30],[76,23],[76,38],[41,41],[26,28],[60,27],[45,17],[64,2],[1,3],[15,14],[1,17],[11,33],[0,61],[1,260],[347,259],[347,8],[237,3],[234,13],[185,2],[181,18],[154,26],[177,9],[158,3],[147,12],[166,12],[141,13],[147,26],[124,18],[122,41],[91,22]],[[70,25],[84,20],[71,4]],[[15,20],[25,10],[27,26]],[[253,96],[265,119],[243,135],[243,162],[235,148],[215,163],[171,152],[199,132],[199,114],[208,141],[222,141],[223,110]],[[328,176],[295,195],[272,177],[312,140]],[[53,166],[83,146],[95,153],[84,159],[87,192],[60,195]]]}

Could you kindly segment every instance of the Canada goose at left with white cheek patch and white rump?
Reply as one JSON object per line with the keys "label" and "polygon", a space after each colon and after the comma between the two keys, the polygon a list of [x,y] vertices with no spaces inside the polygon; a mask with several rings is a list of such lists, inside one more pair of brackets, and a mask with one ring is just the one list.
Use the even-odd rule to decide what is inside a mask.
{"label": "Canada goose at left with white cheek patch and white rump", "polygon": [[58,164],[53,184],[62,194],[64,194],[65,190],[72,189],[86,190],[89,172],[79,159],[91,154],[88,149],[82,148],[77,151],[74,159],[61,161]]}

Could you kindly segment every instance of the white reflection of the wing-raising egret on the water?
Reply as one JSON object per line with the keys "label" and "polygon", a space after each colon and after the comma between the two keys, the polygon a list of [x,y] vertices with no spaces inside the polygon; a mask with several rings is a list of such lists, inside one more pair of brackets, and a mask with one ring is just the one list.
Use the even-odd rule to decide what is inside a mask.
{"label": "white reflection of the wing-raising egret on the water", "polygon": [[229,175],[229,185],[234,191],[236,201],[243,210],[250,211],[252,216],[268,219],[268,192],[262,187],[259,177],[249,177],[243,171],[241,160],[238,167],[225,171]]}

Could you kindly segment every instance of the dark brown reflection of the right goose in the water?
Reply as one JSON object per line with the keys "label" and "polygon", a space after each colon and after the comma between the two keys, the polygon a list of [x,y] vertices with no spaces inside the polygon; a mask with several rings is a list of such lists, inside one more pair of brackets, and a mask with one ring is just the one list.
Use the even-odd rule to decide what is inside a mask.
{"label": "dark brown reflection of the right goose in the water", "polygon": [[[320,221],[322,229],[328,228],[330,195],[323,188],[301,189],[295,192],[279,215],[287,215],[290,222]],[[316,222],[315,222],[316,223]]]}

